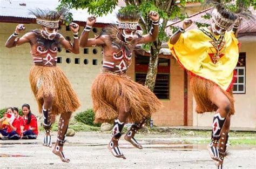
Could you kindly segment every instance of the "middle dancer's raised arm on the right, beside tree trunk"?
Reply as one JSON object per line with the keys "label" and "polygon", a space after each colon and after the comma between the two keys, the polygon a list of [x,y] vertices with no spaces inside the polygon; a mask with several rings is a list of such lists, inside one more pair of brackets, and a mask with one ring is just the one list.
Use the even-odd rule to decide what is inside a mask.
{"label": "middle dancer's raised arm on the right, beside tree trunk", "polygon": [[138,43],[148,43],[148,42],[154,42],[158,37],[158,23],[159,23],[159,15],[157,12],[151,11],[149,13],[149,17],[152,20],[152,26],[150,29],[149,34],[144,35],[142,39],[138,41]]}

